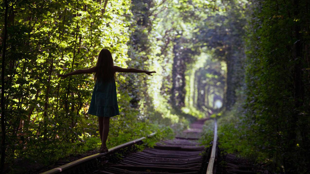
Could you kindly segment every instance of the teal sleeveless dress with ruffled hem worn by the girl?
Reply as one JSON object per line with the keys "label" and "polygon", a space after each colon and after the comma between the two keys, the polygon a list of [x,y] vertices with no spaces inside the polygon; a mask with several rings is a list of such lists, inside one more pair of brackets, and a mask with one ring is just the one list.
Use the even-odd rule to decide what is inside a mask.
{"label": "teal sleeveless dress with ruffled hem worn by the girl", "polygon": [[98,117],[119,115],[115,79],[108,82],[96,80],[88,114]]}

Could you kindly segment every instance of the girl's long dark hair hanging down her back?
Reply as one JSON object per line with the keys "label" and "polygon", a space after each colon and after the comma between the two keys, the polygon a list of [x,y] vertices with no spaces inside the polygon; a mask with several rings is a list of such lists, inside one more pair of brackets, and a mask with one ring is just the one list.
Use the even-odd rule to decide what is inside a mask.
{"label": "girl's long dark hair hanging down her back", "polygon": [[96,63],[94,79],[95,81],[102,80],[107,82],[110,81],[113,77],[115,77],[115,72],[113,71],[112,54],[108,49],[102,49],[99,53]]}

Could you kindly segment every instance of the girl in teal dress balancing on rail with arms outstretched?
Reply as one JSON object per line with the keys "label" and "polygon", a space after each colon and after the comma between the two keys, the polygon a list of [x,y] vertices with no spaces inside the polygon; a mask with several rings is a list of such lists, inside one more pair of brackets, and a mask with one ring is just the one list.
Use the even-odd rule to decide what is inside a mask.
{"label": "girl in teal dress balancing on rail with arms outstretched", "polygon": [[110,117],[119,115],[116,98],[115,72],[143,72],[150,76],[152,76],[151,73],[156,73],[155,71],[113,66],[113,58],[110,51],[108,49],[102,49],[95,67],[79,69],[68,74],[56,74],[62,77],[61,79],[64,79],[68,76],[77,74],[95,73],[94,79],[96,83],[87,113],[98,116],[101,139],[100,153],[108,152],[106,141],[109,133]]}

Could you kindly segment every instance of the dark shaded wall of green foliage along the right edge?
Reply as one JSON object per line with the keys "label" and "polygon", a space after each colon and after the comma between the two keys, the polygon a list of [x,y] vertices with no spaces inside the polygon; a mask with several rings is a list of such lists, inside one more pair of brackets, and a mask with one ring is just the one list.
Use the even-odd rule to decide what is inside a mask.
{"label": "dark shaded wall of green foliage along the right edge", "polygon": [[[309,166],[308,1],[253,1],[247,39],[246,125],[286,172]],[[297,144],[299,146],[297,146]]]}

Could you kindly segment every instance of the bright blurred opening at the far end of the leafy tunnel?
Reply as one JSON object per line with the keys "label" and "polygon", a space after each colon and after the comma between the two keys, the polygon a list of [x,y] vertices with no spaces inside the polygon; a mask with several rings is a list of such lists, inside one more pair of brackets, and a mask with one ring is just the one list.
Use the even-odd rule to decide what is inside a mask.
{"label": "bright blurred opening at the far end of the leafy tunnel", "polygon": [[208,111],[219,108],[217,100],[222,103],[224,99],[226,63],[213,56],[210,51],[203,52],[186,72],[185,113],[204,118]]}

